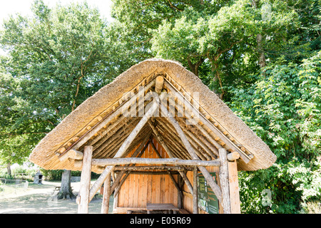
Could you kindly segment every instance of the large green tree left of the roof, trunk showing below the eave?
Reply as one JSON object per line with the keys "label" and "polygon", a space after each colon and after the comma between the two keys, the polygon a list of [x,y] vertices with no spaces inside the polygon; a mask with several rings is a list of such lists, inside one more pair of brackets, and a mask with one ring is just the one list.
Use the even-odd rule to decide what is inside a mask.
{"label": "large green tree left of the roof, trunk showing below the eave", "polygon": [[[26,154],[108,79],[106,22],[97,9],[86,3],[49,9],[43,1],[34,1],[32,10],[32,18],[18,15],[6,20],[0,38],[8,51],[2,65],[17,85],[0,105],[0,110],[12,114],[1,115],[3,123],[10,118],[1,137],[12,143],[24,138]],[[65,183],[70,186],[70,177],[62,179],[58,195],[72,197]]]}

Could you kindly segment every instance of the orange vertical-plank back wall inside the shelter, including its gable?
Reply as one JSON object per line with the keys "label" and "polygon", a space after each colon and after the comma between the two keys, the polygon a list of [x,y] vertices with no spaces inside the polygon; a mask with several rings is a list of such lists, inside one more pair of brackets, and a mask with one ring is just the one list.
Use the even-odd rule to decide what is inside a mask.
{"label": "orange vertical-plank back wall inside the shelter, including its gable", "polygon": [[[153,140],[153,144],[163,158],[168,158],[156,140]],[[128,157],[131,157],[131,154]],[[148,145],[142,157],[158,158],[151,145]],[[173,177],[177,182],[177,175]],[[118,207],[146,208],[146,203],[172,203],[177,206],[178,192],[168,175],[128,176],[119,192]]]}

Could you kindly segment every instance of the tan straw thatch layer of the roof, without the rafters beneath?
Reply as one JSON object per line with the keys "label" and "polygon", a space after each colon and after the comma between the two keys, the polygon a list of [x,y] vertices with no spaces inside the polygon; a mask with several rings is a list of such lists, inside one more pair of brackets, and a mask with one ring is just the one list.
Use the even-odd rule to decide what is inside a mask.
{"label": "tan straw thatch layer of the roof, without the rafters beneath", "polygon": [[[250,130],[213,91],[205,86],[200,78],[187,71],[180,63],[163,59],[148,59],[138,63],[118,76],[112,83],[98,90],[39,142],[29,160],[46,169],[79,170],[79,168],[73,167],[73,160],[64,160],[63,162],[58,160],[55,152],[75,136],[81,137],[83,129],[87,128],[88,123],[91,125],[97,123],[97,117],[102,113],[106,115],[111,112],[111,107],[122,98],[123,94],[135,88],[155,72],[167,73],[187,93],[192,94],[197,91],[200,107],[219,123],[231,138],[254,155],[248,164],[240,160],[239,170],[265,169],[275,162],[276,156],[265,142],[258,138],[253,130]],[[95,172],[94,169],[93,171]]]}

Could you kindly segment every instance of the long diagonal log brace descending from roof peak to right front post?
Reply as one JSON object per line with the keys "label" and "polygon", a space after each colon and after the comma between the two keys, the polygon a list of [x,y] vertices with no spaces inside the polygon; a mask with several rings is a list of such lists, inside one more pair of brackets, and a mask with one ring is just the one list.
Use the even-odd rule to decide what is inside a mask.
{"label": "long diagonal log brace descending from roof peak to right front post", "polygon": [[[167,108],[165,108],[162,105],[162,112],[166,115],[170,123],[175,128],[176,132],[178,133],[180,140],[182,140],[183,144],[185,145],[186,150],[190,154],[190,156],[193,158],[193,160],[199,160],[199,157],[196,155],[193,147],[190,145],[190,142],[188,141],[188,138],[183,133],[182,128],[180,128],[180,125],[178,122],[173,118],[173,116],[168,112]],[[208,185],[212,188],[213,192],[215,193],[216,197],[218,197],[218,200],[222,200],[222,192],[220,190],[220,187],[215,183],[213,180],[213,177],[210,175],[210,172],[206,170],[205,167],[198,165],[198,169],[200,172],[202,172],[203,176],[205,177],[205,180],[208,182]]]}

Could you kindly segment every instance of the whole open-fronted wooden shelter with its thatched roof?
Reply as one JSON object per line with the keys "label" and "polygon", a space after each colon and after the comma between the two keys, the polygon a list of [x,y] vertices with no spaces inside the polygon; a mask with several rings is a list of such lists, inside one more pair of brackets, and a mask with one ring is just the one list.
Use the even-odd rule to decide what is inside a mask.
{"label": "whole open-fronted wooden shelter with its thatched roof", "polygon": [[[88,212],[102,185],[102,213],[113,191],[114,213],[168,204],[208,213],[215,203],[215,212],[240,213],[238,170],[265,169],[276,157],[193,73],[175,61],[149,59],[73,110],[29,160],[82,171],[79,213]],[[101,173],[93,186],[91,171]]]}

